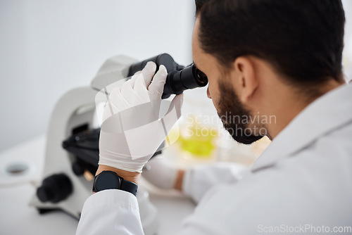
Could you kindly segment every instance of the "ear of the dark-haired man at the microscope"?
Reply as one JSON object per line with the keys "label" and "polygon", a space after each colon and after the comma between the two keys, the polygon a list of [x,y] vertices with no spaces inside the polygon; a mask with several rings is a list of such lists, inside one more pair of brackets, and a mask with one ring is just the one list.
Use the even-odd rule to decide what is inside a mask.
{"label": "ear of the dark-haired man at the microscope", "polygon": [[240,56],[234,61],[234,70],[237,77],[237,94],[242,103],[249,101],[256,91],[259,81],[253,61],[245,56]]}

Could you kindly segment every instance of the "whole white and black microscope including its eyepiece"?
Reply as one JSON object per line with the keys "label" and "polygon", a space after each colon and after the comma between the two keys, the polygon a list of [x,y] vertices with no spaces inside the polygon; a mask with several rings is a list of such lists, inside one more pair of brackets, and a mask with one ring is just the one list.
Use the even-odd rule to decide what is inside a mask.
{"label": "whole white and black microscope including its eyepiece", "polygon": [[[46,152],[42,184],[32,197],[30,205],[40,214],[63,210],[78,220],[84,201],[92,195],[93,179],[99,162],[99,102],[96,94],[108,92],[106,87],[117,81],[128,80],[142,70],[148,61],[165,65],[168,77],[162,98],[181,94],[186,89],[204,87],[206,75],[194,64],[178,65],[163,53],[139,62],[127,56],[109,58],[101,66],[90,86],[68,91],[56,103],[51,115],[46,139]],[[163,145],[163,144],[162,144]],[[161,153],[162,146],[154,155]],[[157,210],[149,201],[149,194],[142,187],[137,191],[137,201],[144,234],[156,234]]]}

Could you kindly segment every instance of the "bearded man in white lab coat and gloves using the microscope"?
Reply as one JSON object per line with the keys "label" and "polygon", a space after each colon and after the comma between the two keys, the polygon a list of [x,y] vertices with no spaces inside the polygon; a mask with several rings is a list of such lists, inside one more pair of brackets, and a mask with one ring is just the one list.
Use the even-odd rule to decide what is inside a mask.
{"label": "bearded man in white lab coat and gloves using the microscope", "polygon": [[[352,87],[341,70],[341,1],[210,0],[196,1],[196,6],[194,63],[208,77],[208,97],[225,129],[244,144],[263,135],[272,144],[237,183],[221,170],[195,169],[184,177],[180,171],[171,182],[199,204],[179,234],[351,233]],[[115,113],[131,103],[160,101],[166,72],[161,66],[153,77],[155,69],[149,63],[116,91],[115,105],[125,102],[125,108]],[[142,96],[146,101],[140,101]],[[172,110],[180,115],[182,97],[172,102],[165,130],[175,122]],[[233,121],[230,112],[243,118],[260,113],[262,120],[246,125]],[[144,155],[134,155],[130,147],[130,155],[120,153],[114,147],[120,137],[108,129],[123,118],[114,119],[113,113],[106,119],[113,120],[110,125],[102,126],[96,174],[112,171],[138,184],[139,172],[160,144],[153,142],[158,137],[142,133],[151,146],[142,144]],[[270,115],[275,123],[264,121]],[[197,179],[204,177],[212,184],[201,195]],[[131,185],[96,190],[84,204],[77,234],[143,234]]]}

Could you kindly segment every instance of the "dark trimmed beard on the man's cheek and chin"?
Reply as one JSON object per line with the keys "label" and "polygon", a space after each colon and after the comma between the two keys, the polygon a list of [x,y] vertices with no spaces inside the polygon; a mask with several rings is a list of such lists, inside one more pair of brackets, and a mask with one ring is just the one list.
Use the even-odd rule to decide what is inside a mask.
{"label": "dark trimmed beard on the man's cheek and chin", "polygon": [[[249,120],[249,110],[246,110],[239,101],[237,94],[230,89],[225,82],[219,83],[222,96],[218,104],[218,115],[227,132],[232,138],[241,144],[252,144],[258,139],[263,138],[262,135],[254,135],[249,129],[249,123],[245,123],[244,117]],[[234,118],[232,118],[234,117]]]}

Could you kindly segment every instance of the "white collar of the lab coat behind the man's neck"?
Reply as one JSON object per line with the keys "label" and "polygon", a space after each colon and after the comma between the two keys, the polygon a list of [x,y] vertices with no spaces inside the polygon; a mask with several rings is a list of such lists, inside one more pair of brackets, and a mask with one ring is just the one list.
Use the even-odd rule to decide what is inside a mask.
{"label": "white collar of the lab coat behind the man's neck", "polygon": [[275,165],[319,136],[352,121],[352,86],[342,85],[310,103],[253,163],[252,172]]}

